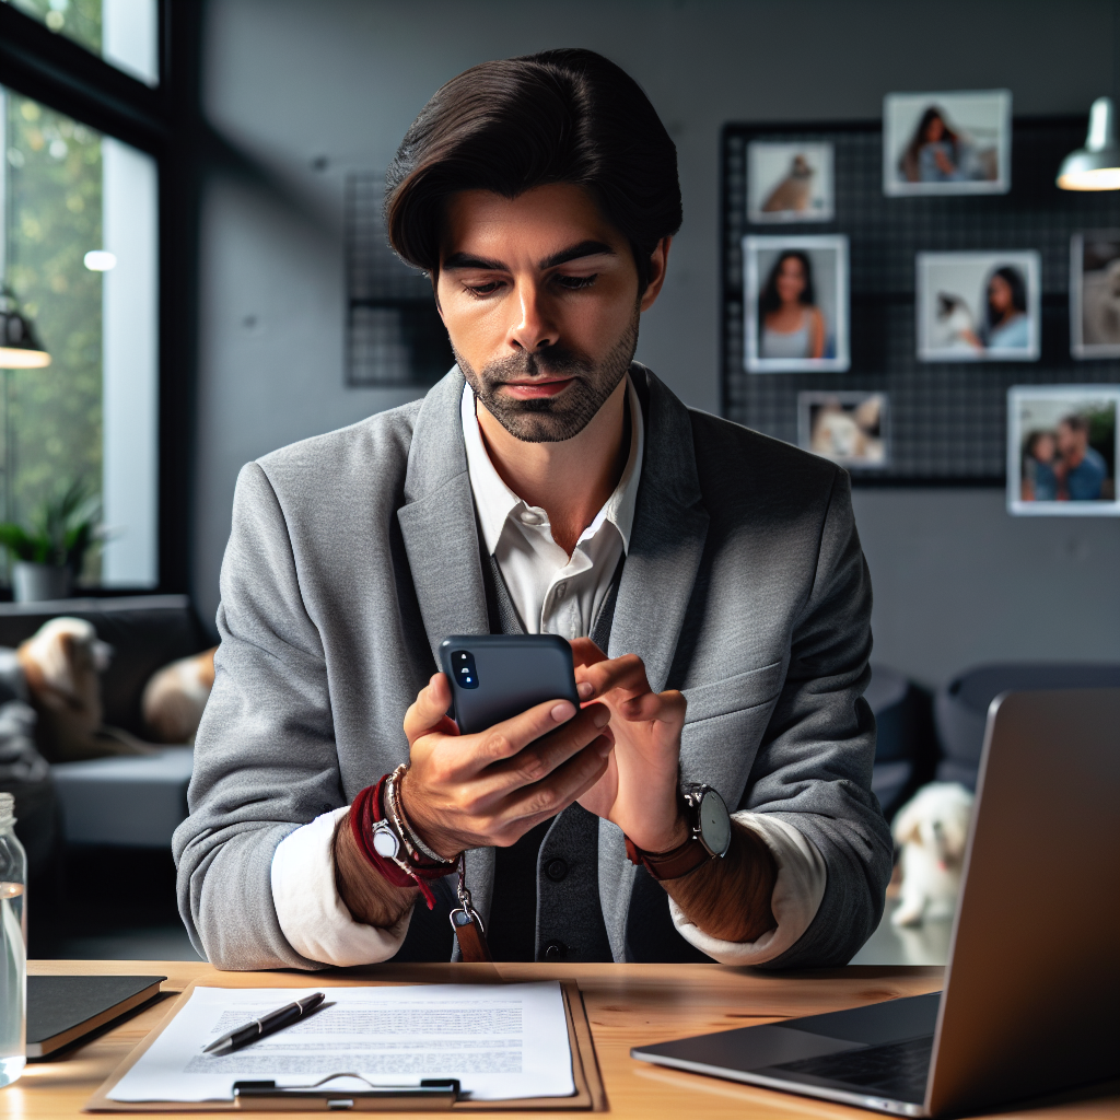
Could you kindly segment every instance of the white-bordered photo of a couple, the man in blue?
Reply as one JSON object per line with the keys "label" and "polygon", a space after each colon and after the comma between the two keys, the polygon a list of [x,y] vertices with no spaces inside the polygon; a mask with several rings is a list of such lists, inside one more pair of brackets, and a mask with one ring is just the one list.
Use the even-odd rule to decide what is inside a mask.
{"label": "white-bordered photo of a couple, the man in blue", "polygon": [[1016,385],[1007,392],[1007,508],[1120,516],[1120,385]]}

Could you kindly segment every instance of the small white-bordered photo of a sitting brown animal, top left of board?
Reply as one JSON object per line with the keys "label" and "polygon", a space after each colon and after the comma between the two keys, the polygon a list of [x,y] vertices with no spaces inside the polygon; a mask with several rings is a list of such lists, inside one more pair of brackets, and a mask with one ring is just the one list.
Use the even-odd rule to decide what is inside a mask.
{"label": "small white-bordered photo of a sitting brown animal, top left of board", "polygon": [[831,222],[832,216],[832,144],[752,141],[748,222]]}

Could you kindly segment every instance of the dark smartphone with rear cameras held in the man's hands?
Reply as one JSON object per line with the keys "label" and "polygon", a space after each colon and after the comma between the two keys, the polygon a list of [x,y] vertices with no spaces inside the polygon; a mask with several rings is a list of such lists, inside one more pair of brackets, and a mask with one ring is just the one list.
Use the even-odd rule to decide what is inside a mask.
{"label": "dark smartphone with rear cameras held in the man's hands", "polygon": [[579,708],[571,646],[557,634],[451,635],[440,642],[439,660],[464,735],[545,700],[570,700]]}

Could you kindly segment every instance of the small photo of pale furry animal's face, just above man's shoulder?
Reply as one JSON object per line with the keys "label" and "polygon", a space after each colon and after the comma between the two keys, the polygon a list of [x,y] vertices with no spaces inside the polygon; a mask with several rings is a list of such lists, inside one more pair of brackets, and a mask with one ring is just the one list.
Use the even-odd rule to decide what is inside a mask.
{"label": "small photo of pale furry animal's face, just above man's shoulder", "polygon": [[849,469],[889,460],[886,393],[797,393],[797,446]]}

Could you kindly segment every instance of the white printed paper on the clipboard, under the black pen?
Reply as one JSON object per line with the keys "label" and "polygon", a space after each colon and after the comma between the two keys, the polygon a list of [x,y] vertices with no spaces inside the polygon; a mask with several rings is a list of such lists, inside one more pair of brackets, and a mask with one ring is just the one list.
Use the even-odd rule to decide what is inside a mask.
{"label": "white printed paper on the clipboard, under the black pen", "polygon": [[215,1038],[311,990],[196,988],[110,1100],[232,1100],[235,1081],[291,1089],[346,1073],[374,1085],[458,1077],[465,1096],[484,1101],[576,1092],[554,981],[324,988],[330,1006],[301,1023],[223,1057],[203,1053]]}

